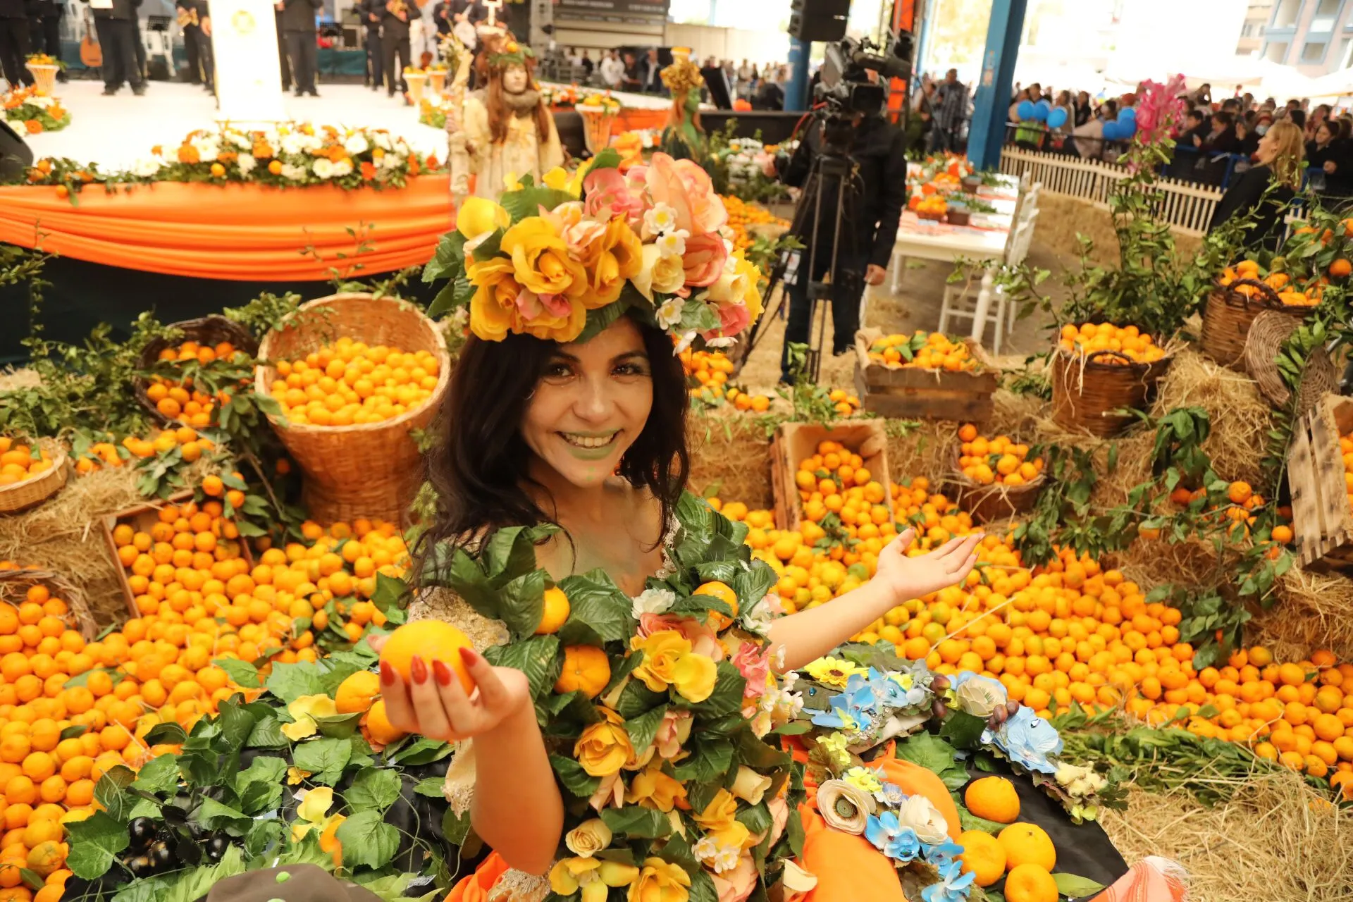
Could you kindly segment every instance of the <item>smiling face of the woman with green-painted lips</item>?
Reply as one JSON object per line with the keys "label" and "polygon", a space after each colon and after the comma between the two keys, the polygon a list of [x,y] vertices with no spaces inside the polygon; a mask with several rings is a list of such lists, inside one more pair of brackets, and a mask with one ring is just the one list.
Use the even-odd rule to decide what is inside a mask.
{"label": "smiling face of the woman with green-painted lips", "polygon": [[621,316],[589,342],[557,346],[526,404],[521,434],[571,484],[598,485],[620,467],[652,407],[643,335]]}

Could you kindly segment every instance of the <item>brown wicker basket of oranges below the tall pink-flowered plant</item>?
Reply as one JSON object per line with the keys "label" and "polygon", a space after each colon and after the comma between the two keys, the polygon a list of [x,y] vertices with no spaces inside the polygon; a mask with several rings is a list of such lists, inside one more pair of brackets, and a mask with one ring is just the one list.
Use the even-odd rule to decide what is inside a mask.
{"label": "brown wicker basket of oranges below the tall pink-flowered plant", "polygon": [[1154,364],[1101,361],[1114,357],[1123,356],[1114,350],[1096,350],[1085,357],[1061,349],[1053,352],[1053,422],[1100,438],[1116,435],[1137,422],[1131,414],[1114,411],[1143,410],[1172,357]]}

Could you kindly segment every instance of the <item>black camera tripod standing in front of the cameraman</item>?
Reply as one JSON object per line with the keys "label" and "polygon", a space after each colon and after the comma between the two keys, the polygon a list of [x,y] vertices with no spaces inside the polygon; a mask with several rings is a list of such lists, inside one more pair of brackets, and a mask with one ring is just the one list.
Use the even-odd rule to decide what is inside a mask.
{"label": "black camera tripod standing in front of the cameraman", "polygon": [[[790,284],[800,284],[800,279],[808,280],[808,358],[805,361],[805,376],[817,381],[823,366],[823,345],[827,341],[827,307],[835,300],[854,300],[859,303],[861,292],[865,288],[865,273],[859,272],[859,254],[856,235],[854,230],[854,212],[856,203],[855,164],[850,154],[850,141],[854,131],[850,119],[839,114],[819,114],[823,127],[821,153],[813,158],[808,177],[804,181],[804,191],[794,207],[794,218],[789,227],[789,234],[802,235],[806,247],[781,254],[770,273],[770,284],[766,289],[767,300],[775,296],[775,289],[783,289]],[[806,138],[805,138],[806,139]],[[824,199],[825,196],[825,199]],[[835,211],[827,211],[829,218],[824,222],[824,203],[832,203]],[[843,227],[844,223],[844,227]],[[819,276],[820,253],[827,252],[827,229],[831,229],[831,250],[827,265]],[[806,265],[804,260],[806,258]],[[843,261],[850,261],[843,266]],[[789,298],[781,291],[781,304],[787,304]],[[766,323],[771,319],[767,311],[752,327],[751,335],[743,346],[741,360],[756,348],[764,335]]]}

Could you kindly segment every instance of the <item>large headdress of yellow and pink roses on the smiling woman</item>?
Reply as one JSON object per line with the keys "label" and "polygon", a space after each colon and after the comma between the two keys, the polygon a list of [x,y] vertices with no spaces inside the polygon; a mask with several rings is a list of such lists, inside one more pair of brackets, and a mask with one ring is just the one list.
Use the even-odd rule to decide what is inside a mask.
{"label": "large headdress of yellow and pink roses on the smiling woman", "polygon": [[486,341],[586,341],[630,314],[678,350],[725,346],[762,312],[760,272],[725,235],[728,211],[690,160],[653,154],[621,173],[614,150],[572,179],[525,179],[501,204],[469,197],[423,281],[451,279],[429,312],[469,308]]}

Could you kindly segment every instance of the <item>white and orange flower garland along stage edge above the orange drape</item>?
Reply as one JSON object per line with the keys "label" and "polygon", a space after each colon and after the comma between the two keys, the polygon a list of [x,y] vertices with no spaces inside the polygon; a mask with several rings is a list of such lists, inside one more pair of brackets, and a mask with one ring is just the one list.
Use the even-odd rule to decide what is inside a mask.
{"label": "white and orange flower garland along stage edge above the orange drape", "polygon": [[419,157],[403,138],[380,128],[290,123],[267,130],[221,126],[215,131],[191,131],[177,147],[156,146],[120,172],[99,172],[95,164],[47,157],[28,168],[26,181],[57,185],[72,195],[88,184],[156,181],[380,189],[403,188],[411,176],[440,170],[436,157]]}

